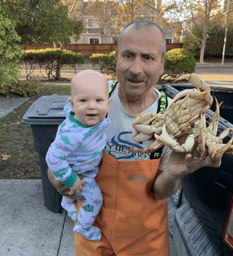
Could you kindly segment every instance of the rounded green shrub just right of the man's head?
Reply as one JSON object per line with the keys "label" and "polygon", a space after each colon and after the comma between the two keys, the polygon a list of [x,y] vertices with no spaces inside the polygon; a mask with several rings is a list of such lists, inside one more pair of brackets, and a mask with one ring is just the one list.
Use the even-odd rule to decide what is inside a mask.
{"label": "rounded green shrub just right of the man's head", "polygon": [[172,49],[167,53],[164,74],[171,75],[173,78],[186,73],[191,74],[195,72],[195,65],[195,57],[189,50]]}

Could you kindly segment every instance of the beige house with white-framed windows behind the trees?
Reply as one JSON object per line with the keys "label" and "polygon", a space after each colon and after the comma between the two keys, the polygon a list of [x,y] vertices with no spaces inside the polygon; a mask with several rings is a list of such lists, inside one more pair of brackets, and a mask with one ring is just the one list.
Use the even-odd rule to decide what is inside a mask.
{"label": "beige house with white-framed windows behind the trees", "polygon": [[[135,8],[135,17],[137,17],[138,20],[152,20],[155,23],[159,23],[158,8],[161,2],[162,0],[144,1],[144,3]],[[71,44],[116,44],[119,35],[118,31],[122,28],[116,29],[116,26],[113,26],[113,21],[110,23],[111,25],[107,25],[107,22],[104,23],[104,25],[101,25],[98,17],[91,15],[91,8],[95,8],[96,10],[96,7],[94,6],[96,5],[95,3],[82,2],[81,8],[78,11],[80,12],[80,19],[83,19],[85,30],[80,34],[80,39],[78,41],[75,41],[74,37],[72,37]],[[101,2],[98,2],[98,5],[101,5]],[[117,5],[119,5],[119,3]],[[113,18],[110,11],[107,11],[104,17],[105,16],[106,19],[107,17],[109,17],[109,19]],[[174,39],[174,29],[163,28],[163,30],[165,32],[166,43],[177,42]]]}

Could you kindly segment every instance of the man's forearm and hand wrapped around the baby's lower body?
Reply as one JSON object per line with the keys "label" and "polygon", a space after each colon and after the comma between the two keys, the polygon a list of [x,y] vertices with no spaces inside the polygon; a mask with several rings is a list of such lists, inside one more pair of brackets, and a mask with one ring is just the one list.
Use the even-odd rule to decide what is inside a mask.
{"label": "man's forearm and hand wrapped around the baby's lower body", "polygon": [[[70,188],[66,187],[64,184],[62,184],[61,181],[56,180],[56,178],[54,177],[54,175],[50,169],[47,170],[47,175],[48,175],[48,178],[49,178],[51,184],[53,184],[53,187],[55,187],[56,190],[59,192],[59,194],[61,194],[62,196],[70,197],[71,199],[75,199],[75,200],[81,200],[84,198],[84,197],[70,196],[69,195]],[[78,175],[78,176],[81,180],[83,179],[83,175]]]}

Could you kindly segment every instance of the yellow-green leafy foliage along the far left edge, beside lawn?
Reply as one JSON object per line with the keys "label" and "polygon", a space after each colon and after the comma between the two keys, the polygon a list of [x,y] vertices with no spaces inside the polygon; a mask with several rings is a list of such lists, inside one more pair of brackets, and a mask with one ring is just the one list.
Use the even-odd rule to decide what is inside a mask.
{"label": "yellow-green leafy foliage along the far left edge, beside lawn", "polygon": [[5,17],[0,6],[0,93],[5,87],[17,84],[20,77],[20,57],[23,52],[16,42],[20,40],[15,23]]}

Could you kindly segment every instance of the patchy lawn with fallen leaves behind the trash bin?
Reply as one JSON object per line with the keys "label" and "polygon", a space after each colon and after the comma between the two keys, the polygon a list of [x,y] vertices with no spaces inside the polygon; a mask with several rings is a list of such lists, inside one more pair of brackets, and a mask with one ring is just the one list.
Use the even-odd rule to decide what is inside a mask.
{"label": "patchy lawn with fallen leaves behind the trash bin", "polygon": [[[70,95],[70,85],[42,84],[41,93],[15,108],[0,121],[0,178],[41,178],[39,154],[34,149],[30,125],[22,123],[23,115],[33,102],[45,95]],[[2,155],[11,156],[2,160]]]}

